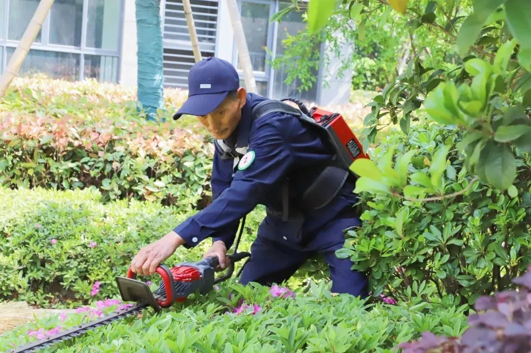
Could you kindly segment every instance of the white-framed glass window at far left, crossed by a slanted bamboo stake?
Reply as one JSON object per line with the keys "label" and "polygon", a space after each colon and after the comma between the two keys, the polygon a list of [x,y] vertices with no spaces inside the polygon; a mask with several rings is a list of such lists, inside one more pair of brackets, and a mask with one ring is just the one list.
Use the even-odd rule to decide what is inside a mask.
{"label": "white-framed glass window at far left, crossed by a slanted bamboo stake", "polygon": [[[19,76],[118,82],[124,0],[55,0]],[[0,71],[11,59],[39,0],[0,0]],[[8,14],[5,16],[4,14]]]}

